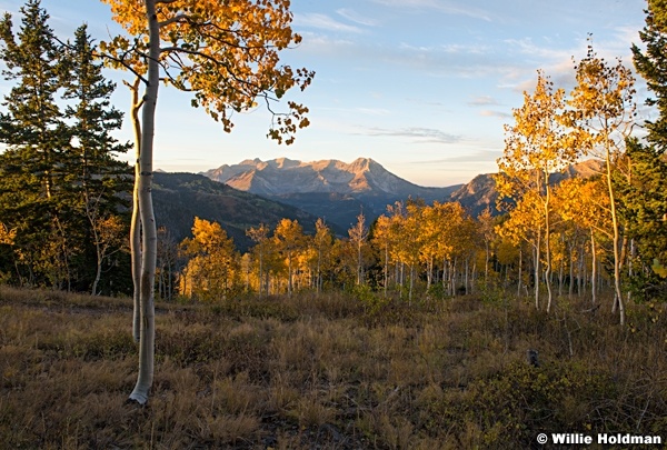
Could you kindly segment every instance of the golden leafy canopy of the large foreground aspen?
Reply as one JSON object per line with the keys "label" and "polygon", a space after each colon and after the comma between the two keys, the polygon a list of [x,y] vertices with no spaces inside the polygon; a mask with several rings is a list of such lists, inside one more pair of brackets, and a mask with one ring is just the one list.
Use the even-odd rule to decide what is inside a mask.
{"label": "golden leafy canopy of the large foreground aspen", "polygon": [[[116,37],[100,49],[110,66],[147,72],[149,21],[143,0],[102,0],[113,20],[131,37]],[[301,37],[290,27],[289,0],[173,0],[157,1],[162,81],[193,92],[192,106],[233,127],[232,113],[265,101],[275,122],[269,137],[286,143],[309,124],[308,108],[288,101],[289,113],[275,113],[271,102],[299,87],[306,89],[315,72],[279,64],[279,51],[297,46]]]}

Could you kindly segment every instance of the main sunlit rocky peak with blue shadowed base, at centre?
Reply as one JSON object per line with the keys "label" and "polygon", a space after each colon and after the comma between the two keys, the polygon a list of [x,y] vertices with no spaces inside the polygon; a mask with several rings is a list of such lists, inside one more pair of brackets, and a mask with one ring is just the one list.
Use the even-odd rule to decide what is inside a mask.
{"label": "main sunlit rocky peak with blue shadowed base, at centre", "polygon": [[460,187],[417,186],[369,158],[359,158],[351,163],[253,159],[225,164],[202,174],[236,189],[305,209],[344,229],[356,222],[361,210],[371,221],[386,211],[387,204],[410,197],[428,203],[446,201]]}

